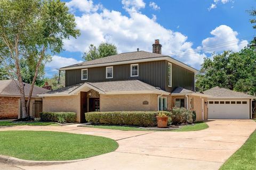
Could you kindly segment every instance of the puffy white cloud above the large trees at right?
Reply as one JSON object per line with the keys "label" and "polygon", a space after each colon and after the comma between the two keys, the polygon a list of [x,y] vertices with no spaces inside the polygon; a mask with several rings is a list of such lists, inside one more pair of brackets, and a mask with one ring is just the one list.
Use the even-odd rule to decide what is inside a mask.
{"label": "puffy white cloud above the large trees at right", "polygon": [[205,48],[204,52],[222,52],[223,50],[233,50],[238,52],[247,44],[247,40],[239,40],[238,33],[228,27],[227,25],[220,25],[211,31],[213,37],[206,38],[202,41],[202,47]]}

